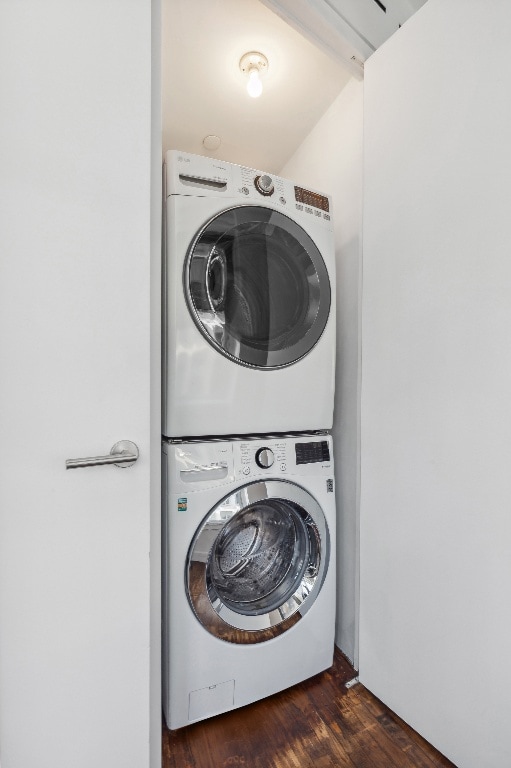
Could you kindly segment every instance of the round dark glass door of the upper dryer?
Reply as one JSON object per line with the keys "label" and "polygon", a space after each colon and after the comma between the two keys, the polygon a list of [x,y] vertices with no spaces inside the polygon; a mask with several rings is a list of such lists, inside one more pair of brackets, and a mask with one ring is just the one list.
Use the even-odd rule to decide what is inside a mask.
{"label": "round dark glass door of the upper dryer", "polygon": [[184,283],[205,338],[256,368],[291,365],[310,352],[330,312],[318,248],[292,219],[262,206],[211,219],[189,249]]}

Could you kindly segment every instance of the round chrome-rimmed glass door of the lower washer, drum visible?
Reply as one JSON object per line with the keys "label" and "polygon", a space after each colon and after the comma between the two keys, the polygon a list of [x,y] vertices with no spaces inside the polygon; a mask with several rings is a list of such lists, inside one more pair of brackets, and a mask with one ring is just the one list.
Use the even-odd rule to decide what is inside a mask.
{"label": "round chrome-rimmed glass door of the lower washer, drum visible", "polygon": [[282,480],[250,483],[211,510],[194,537],[190,604],[222,640],[269,640],[314,603],[329,551],[326,520],[310,493]]}

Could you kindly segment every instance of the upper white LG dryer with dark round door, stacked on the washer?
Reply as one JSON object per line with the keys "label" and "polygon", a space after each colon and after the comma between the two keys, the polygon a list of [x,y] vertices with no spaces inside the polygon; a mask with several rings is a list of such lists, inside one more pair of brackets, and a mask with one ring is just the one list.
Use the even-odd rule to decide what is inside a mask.
{"label": "upper white LG dryer with dark round door, stacked on the washer", "polygon": [[165,177],[163,434],[330,429],[330,198],[177,151]]}

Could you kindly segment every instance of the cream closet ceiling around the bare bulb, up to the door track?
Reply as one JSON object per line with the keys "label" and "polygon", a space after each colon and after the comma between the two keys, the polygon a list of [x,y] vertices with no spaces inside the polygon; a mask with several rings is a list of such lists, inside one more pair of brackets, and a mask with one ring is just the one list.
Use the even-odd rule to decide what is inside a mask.
{"label": "cream closet ceiling around the bare bulb, up to the door track", "polygon": [[[163,0],[162,26],[164,150],[279,173],[351,77],[259,0]],[[257,99],[239,68],[253,50],[269,61]]]}

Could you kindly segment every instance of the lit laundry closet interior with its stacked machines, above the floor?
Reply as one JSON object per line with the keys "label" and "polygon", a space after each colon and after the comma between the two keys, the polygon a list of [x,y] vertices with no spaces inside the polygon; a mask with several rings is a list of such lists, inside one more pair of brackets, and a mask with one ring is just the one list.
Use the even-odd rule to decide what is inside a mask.
{"label": "lit laundry closet interior with its stacked machines, above the floor", "polygon": [[[169,0],[163,5],[162,29],[164,706],[170,727],[181,727],[232,708],[233,698],[234,706],[240,706],[329,667],[336,617],[337,644],[344,644],[343,651],[355,660],[361,82],[360,73],[356,80],[259,0],[193,7]],[[258,98],[247,93],[251,66],[252,75],[260,78]],[[329,149],[330,137],[318,139],[318,130],[337,134],[340,152]],[[329,178],[328,169],[339,168],[339,154],[344,168]],[[348,209],[339,194],[343,190]],[[340,258],[340,237],[354,241],[351,284]],[[349,302],[352,316],[343,309],[338,320],[338,308],[350,294],[355,297]],[[348,398],[343,392],[350,415],[341,429],[339,395],[333,422],[334,392],[350,376]],[[332,426],[337,445],[328,434]],[[234,442],[225,442],[229,438]],[[224,443],[215,447],[206,439]],[[337,453],[346,464],[335,477]],[[215,478],[217,491],[212,492]],[[271,491],[265,478],[276,482]],[[306,513],[296,515],[297,509],[316,518],[312,536],[305,528],[294,545],[286,538],[265,545],[265,558],[275,546],[284,552],[284,541],[295,548],[294,565],[275,563],[273,576],[269,565],[258,571],[262,544],[251,531],[264,525],[254,517],[260,517],[259,508],[249,514],[229,495],[242,492],[240,480],[257,480],[264,504],[281,505],[280,512],[264,513],[272,525],[286,518],[283,504],[297,504],[292,487],[302,494],[303,504],[294,507],[291,527],[301,530]],[[282,480],[286,483],[279,486]],[[245,492],[253,495],[258,487],[249,484]],[[326,519],[321,509],[313,512],[317,504],[312,498],[307,502],[307,488],[315,488]],[[287,501],[278,500],[279,492]],[[224,512],[215,511],[215,494]],[[222,496],[228,498],[222,501]],[[176,509],[181,510],[179,519]],[[239,510],[239,523],[227,509]],[[204,521],[206,513],[210,517]],[[225,531],[219,525],[224,518],[231,520]],[[185,534],[190,519],[195,522]],[[316,554],[313,541],[318,542]],[[187,555],[204,546],[202,555]],[[218,562],[215,547],[222,552]],[[309,552],[306,558],[312,557],[309,564],[300,554],[302,547]],[[201,558],[204,596],[199,598],[194,594]],[[276,579],[280,597],[265,591],[264,599],[262,592],[250,598],[242,562],[251,564],[251,578],[261,589],[268,591],[264,585]],[[299,577],[293,586],[290,575],[300,571],[300,563],[305,573],[317,576],[308,585],[300,585]],[[229,572],[220,576],[227,567]],[[229,587],[229,579],[237,586]],[[234,594],[241,595],[238,602]],[[213,623],[202,615],[200,603],[213,607]],[[285,607],[291,603],[293,608]],[[276,638],[277,629],[291,629],[311,606],[289,640],[285,635],[261,644],[269,637],[266,627],[273,627]],[[280,627],[279,611],[285,619]],[[222,618],[223,628],[215,629]],[[308,625],[314,627],[312,634]],[[204,627],[223,640],[231,638],[232,644],[208,641]],[[259,639],[258,631],[263,632]],[[187,660],[188,647],[198,656]],[[212,667],[208,660],[213,655]],[[267,670],[257,682],[243,671],[252,666]]]}

